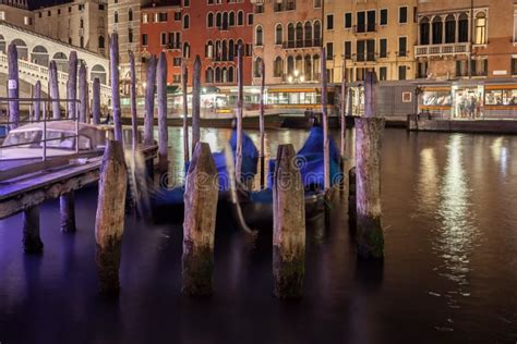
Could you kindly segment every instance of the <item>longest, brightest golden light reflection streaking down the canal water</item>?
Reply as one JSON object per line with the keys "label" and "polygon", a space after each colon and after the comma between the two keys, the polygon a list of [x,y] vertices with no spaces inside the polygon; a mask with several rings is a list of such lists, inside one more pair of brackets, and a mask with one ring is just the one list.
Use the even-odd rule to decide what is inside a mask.
{"label": "longest, brightest golden light reflection streaking down the canal water", "polygon": [[436,270],[456,284],[453,291],[448,291],[450,307],[457,307],[455,296],[470,295],[469,259],[479,234],[476,214],[471,210],[471,192],[462,149],[462,136],[453,135],[447,145],[447,160],[440,189],[437,214],[442,225],[433,243],[433,249],[443,258],[443,265]]}

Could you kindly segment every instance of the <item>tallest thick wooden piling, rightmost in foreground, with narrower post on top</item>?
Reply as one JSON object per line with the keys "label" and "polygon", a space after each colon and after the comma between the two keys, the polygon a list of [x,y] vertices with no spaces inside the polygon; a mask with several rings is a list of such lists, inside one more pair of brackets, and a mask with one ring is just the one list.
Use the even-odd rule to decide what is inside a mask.
{"label": "tallest thick wooden piling, rightmost in foreground, with narrower post on top", "polygon": [[356,119],[356,201],[358,254],[382,258],[381,150],[384,119],[376,118],[375,73],[366,73],[364,118]]}

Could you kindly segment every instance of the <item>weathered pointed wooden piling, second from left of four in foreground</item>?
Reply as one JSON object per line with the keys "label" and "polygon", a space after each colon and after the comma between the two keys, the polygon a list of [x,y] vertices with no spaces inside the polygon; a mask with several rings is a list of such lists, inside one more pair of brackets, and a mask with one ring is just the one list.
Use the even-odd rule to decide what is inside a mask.
{"label": "weathered pointed wooden piling, second from left of four in foreground", "polygon": [[184,193],[181,291],[207,296],[213,290],[214,234],[218,199],[217,169],[211,147],[197,143]]}

